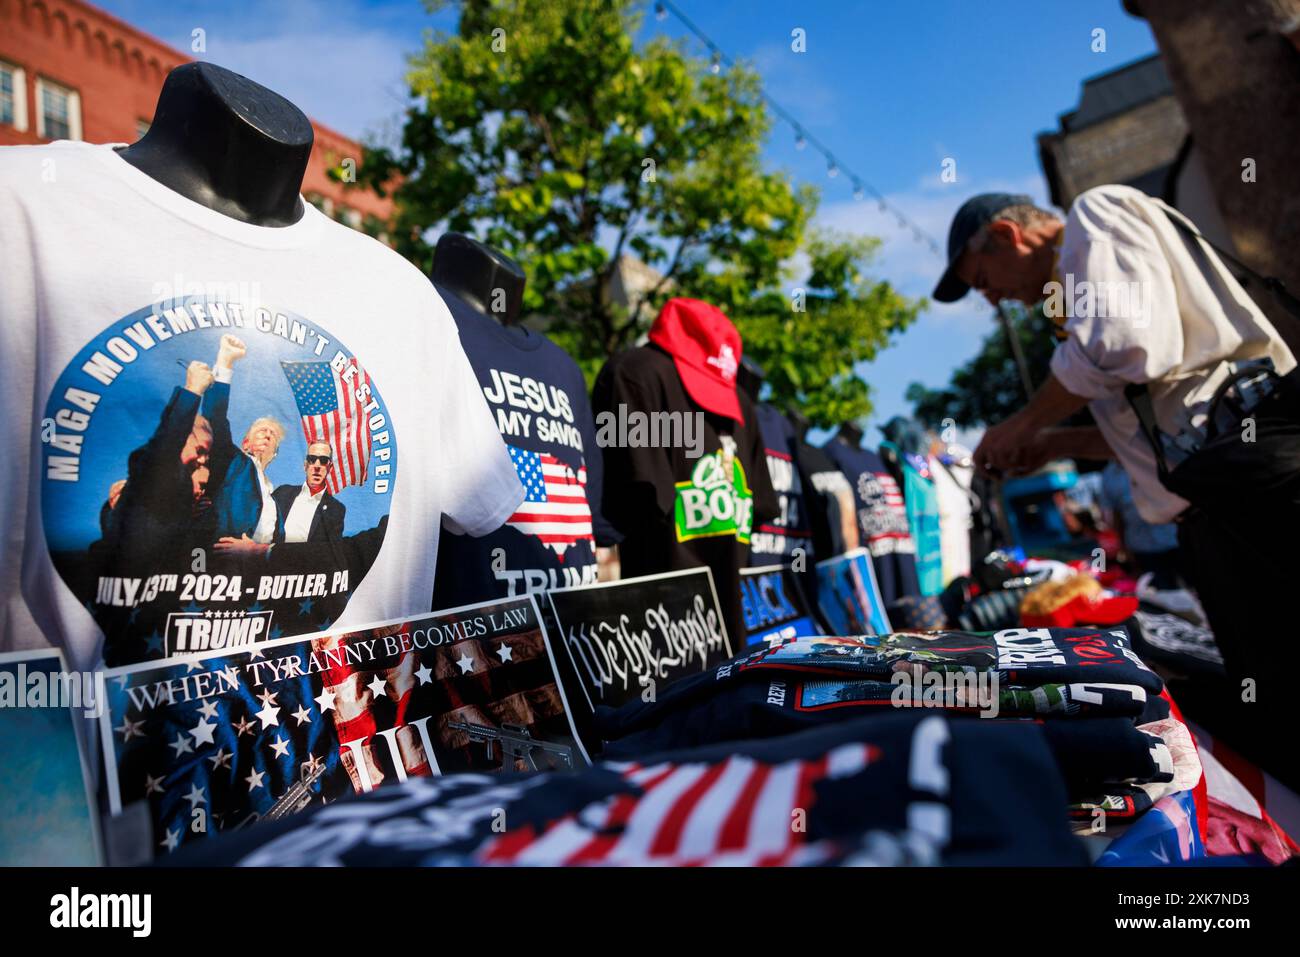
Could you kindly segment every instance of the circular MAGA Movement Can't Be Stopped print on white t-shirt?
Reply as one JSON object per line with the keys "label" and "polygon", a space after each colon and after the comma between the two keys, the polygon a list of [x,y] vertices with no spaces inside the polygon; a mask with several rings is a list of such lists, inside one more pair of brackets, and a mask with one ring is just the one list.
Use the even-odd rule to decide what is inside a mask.
{"label": "circular MAGA Movement Can't Be Stopped print on white t-shirt", "polygon": [[321,631],[384,544],[396,438],[291,312],[186,299],[90,342],[40,424],[42,518],[109,666]]}

